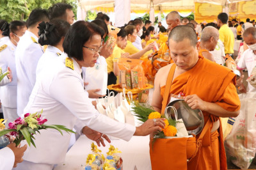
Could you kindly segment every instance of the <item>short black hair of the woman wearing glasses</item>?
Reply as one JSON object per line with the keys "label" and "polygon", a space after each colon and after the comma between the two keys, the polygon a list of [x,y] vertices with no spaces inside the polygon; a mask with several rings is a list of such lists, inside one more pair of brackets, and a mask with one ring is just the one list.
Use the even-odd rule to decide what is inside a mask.
{"label": "short black hair of the woman wearing glasses", "polygon": [[104,35],[102,29],[92,22],[79,20],[75,22],[70,29],[63,42],[64,52],[69,58],[76,58],[78,61],[83,61],[83,45],[93,35]]}

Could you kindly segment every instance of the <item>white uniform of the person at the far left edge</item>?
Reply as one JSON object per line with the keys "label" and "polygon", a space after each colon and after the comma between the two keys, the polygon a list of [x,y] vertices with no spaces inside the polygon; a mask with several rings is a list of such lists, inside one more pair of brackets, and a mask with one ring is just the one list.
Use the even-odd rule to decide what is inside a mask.
{"label": "white uniform of the person at the far left edge", "polygon": [[0,52],[0,67],[3,72],[7,71],[9,66],[12,70],[12,82],[7,76],[0,82],[1,85],[1,102],[4,107],[17,108],[17,73],[15,65],[16,46],[9,40],[6,42],[6,49]]}

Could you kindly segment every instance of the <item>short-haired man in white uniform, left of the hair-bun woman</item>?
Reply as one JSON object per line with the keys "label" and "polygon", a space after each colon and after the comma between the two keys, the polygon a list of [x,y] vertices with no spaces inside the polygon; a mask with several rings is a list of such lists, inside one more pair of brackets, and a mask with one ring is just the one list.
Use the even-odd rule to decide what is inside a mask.
{"label": "short-haired man in white uniform, left of the hair-bun woman", "polygon": [[20,38],[15,52],[17,68],[17,113],[23,113],[28,104],[29,95],[36,82],[36,66],[44,53],[38,44],[38,24],[49,21],[46,10],[33,10],[28,18],[28,30]]}

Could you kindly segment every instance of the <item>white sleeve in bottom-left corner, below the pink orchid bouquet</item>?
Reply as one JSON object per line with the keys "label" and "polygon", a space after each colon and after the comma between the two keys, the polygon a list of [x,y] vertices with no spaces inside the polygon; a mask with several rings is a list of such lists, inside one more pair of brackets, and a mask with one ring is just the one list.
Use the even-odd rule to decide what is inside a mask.
{"label": "white sleeve in bottom-left corner, below the pink orchid bouquet", "polygon": [[12,169],[15,161],[15,156],[13,151],[5,147],[0,150],[0,170]]}

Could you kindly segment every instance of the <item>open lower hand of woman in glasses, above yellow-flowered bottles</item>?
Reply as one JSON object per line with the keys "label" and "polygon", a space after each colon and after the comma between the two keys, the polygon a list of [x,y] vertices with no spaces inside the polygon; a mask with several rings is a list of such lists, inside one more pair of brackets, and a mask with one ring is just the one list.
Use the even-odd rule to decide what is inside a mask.
{"label": "open lower hand of woman in glasses, above yellow-flowered bottles", "polygon": [[88,137],[89,139],[91,139],[92,141],[95,141],[97,143],[98,146],[100,146],[100,143],[102,144],[102,146],[106,146],[104,143],[103,138],[108,141],[108,143],[111,143],[110,139],[108,138],[107,135],[104,135],[100,132],[97,132],[95,130],[92,130],[92,128],[89,127],[84,127],[82,130],[82,133],[84,135],[86,135],[86,137]]}

